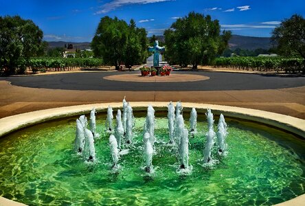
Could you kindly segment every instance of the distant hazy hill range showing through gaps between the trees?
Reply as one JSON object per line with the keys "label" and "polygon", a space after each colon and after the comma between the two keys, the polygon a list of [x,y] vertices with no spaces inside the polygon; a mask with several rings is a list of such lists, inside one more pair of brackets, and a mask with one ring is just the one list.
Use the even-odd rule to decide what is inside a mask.
{"label": "distant hazy hill range showing through gaps between the trees", "polygon": [[[156,36],[160,42],[164,42],[164,36]],[[148,37],[148,40],[150,37]],[[65,47],[65,44],[69,43],[73,44],[76,49],[88,49],[90,48],[89,42],[82,43],[73,43],[73,42],[64,42],[64,41],[49,41],[49,48],[54,47]],[[229,48],[230,49],[249,49],[254,50],[258,48],[262,49],[270,49],[271,43],[269,37],[255,37],[255,36],[240,36],[240,35],[232,35],[229,40]]]}

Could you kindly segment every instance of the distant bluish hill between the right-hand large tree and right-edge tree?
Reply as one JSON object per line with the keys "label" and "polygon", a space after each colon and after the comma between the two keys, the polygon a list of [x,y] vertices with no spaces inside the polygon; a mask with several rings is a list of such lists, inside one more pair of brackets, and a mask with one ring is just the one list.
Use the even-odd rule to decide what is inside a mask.
{"label": "distant bluish hill between the right-hand large tree and right-edge tree", "polygon": [[254,36],[239,36],[239,35],[232,35],[229,40],[229,48],[230,49],[249,49],[254,50],[258,48],[262,49],[270,49],[269,37],[254,37]]}

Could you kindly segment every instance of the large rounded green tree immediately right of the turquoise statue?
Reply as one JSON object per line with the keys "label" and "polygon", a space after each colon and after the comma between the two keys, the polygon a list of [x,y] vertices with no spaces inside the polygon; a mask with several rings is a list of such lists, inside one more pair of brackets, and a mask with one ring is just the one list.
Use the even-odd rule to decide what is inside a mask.
{"label": "large rounded green tree immediately right of the turquoise statue", "polygon": [[218,20],[211,16],[190,12],[177,19],[170,29],[164,32],[166,59],[171,63],[196,69],[199,64],[211,62],[227,47],[231,32],[223,31]]}

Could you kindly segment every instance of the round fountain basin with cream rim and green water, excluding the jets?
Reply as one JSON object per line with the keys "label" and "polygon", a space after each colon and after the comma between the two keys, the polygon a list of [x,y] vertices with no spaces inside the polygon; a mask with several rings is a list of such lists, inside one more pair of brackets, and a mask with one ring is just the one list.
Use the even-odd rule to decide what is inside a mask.
{"label": "round fountain basin with cream rim and green water, excluding the jets", "polygon": [[[135,116],[138,116],[134,144],[130,153],[121,157],[118,173],[111,172],[109,134],[104,132],[106,117],[97,116],[101,134],[101,139],[95,141],[98,161],[88,164],[73,150],[76,117],[71,116],[88,114],[93,107],[105,112],[108,105],[113,106],[115,114],[121,103],[69,106],[0,119],[3,135],[38,122],[65,117],[18,130],[0,139],[0,165],[4,165],[0,172],[0,195],[34,205],[149,205],[160,202],[164,205],[273,205],[304,194],[304,120],[230,106],[183,103],[185,124],[188,125],[190,108],[196,107],[199,113],[199,133],[190,137],[192,174],[183,176],[177,172],[179,163],[166,144],[168,102],[153,103],[159,111],[156,112],[155,130],[159,143],[153,157],[155,173],[146,174],[142,170],[142,130],[148,104],[131,102]],[[225,158],[214,154],[219,163],[213,168],[203,168],[200,164],[207,131],[203,115],[206,108],[212,108],[216,115],[223,113],[229,124],[229,154]],[[14,124],[10,124],[12,122]]]}

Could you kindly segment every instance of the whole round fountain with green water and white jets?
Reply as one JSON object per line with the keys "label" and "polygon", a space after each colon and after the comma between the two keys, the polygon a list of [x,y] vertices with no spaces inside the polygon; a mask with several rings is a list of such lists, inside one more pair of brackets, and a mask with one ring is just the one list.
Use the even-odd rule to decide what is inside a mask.
{"label": "whole round fountain with green water and white jets", "polygon": [[[187,128],[191,128],[192,122],[183,120],[182,106],[178,107],[176,118],[169,115],[176,112],[172,109],[166,118],[164,109],[168,106],[170,110],[171,106],[168,102],[158,102],[152,105],[156,116],[154,135],[158,139],[155,153],[149,133],[143,132],[147,119],[142,113],[145,105],[133,102],[135,117],[133,108],[131,113],[128,112],[133,123],[128,124],[126,118],[126,125],[132,129],[132,145],[128,146],[128,155],[121,156],[119,139],[123,138],[124,128],[118,109],[122,108],[122,103],[111,106],[117,110],[114,135],[104,132],[107,120],[102,113],[107,111],[108,104],[95,104],[69,107],[74,109],[73,112],[69,110],[71,117],[67,117],[67,113],[60,114],[63,110],[43,111],[41,114],[45,116],[40,115],[40,119],[49,120],[47,115],[51,113],[66,119],[31,126],[1,138],[0,196],[28,205],[111,205],[113,199],[117,204],[126,205],[158,205],[160,202],[165,205],[181,202],[192,205],[274,205],[305,192],[302,187],[305,184],[305,141],[291,134],[303,137],[305,130],[298,133],[293,129],[302,128],[295,125],[299,121],[296,118],[285,116],[289,124],[281,124],[281,119],[285,119],[283,115],[273,115],[269,117],[273,118],[269,122],[272,127],[267,127],[253,122],[267,119],[262,111],[254,113],[244,108],[183,103],[185,113],[192,108],[196,108],[197,113],[197,133],[189,139]],[[84,115],[75,122],[75,115],[88,114],[93,107],[99,113],[96,116],[96,130],[102,131],[99,139],[93,139],[91,131],[86,128]],[[209,109],[205,121],[207,108],[212,108],[215,116]],[[38,114],[31,113],[29,118],[34,118],[35,113]],[[225,113],[226,119],[221,113]],[[218,121],[215,127],[214,118]],[[168,144],[169,119],[175,122],[172,129],[174,144]],[[1,126],[8,125],[0,123]],[[293,125],[291,129],[290,125]],[[275,126],[291,133],[277,130]],[[80,137],[82,131],[84,135]],[[79,152],[82,142],[84,149]],[[124,141],[122,143],[124,148]],[[109,169],[109,164],[113,169]],[[143,164],[144,171],[139,170]],[[185,170],[192,172],[185,173]]]}

